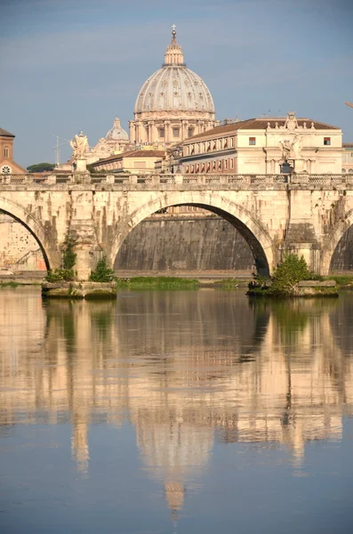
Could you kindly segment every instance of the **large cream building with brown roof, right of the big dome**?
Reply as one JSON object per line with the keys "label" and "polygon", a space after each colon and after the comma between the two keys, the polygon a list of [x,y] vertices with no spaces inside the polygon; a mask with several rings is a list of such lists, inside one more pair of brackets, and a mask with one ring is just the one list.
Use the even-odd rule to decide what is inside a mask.
{"label": "large cream building with brown roof, right of the big dome", "polygon": [[186,174],[341,174],[341,128],[296,118],[250,118],[183,143]]}

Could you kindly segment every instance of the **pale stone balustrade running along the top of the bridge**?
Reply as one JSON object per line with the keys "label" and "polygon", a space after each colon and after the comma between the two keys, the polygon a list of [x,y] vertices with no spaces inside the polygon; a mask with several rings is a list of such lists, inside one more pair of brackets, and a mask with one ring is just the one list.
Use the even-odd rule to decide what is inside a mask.
{"label": "pale stone balustrade running along the top of the bridge", "polygon": [[133,190],[168,189],[267,189],[301,187],[328,189],[353,187],[353,174],[0,174],[2,186],[81,185],[124,187]]}

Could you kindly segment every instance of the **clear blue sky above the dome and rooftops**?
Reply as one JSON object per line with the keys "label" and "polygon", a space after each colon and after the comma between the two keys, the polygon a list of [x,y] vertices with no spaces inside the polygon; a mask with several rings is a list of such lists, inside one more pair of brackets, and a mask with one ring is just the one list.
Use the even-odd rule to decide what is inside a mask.
{"label": "clear blue sky above the dome and rooftops", "polygon": [[[164,60],[171,25],[217,118],[294,110],[353,142],[353,1],[0,0],[0,126],[22,166],[54,161],[54,135],[91,145]],[[61,161],[70,155],[68,145]]]}

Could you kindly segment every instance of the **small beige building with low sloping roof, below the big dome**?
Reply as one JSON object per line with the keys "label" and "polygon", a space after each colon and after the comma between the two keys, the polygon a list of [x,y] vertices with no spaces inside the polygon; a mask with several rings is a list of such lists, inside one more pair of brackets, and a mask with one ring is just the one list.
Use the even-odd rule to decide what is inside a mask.
{"label": "small beige building with low sloping roof, below the big dome", "polygon": [[155,150],[153,147],[143,147],[129,150],[100,159],[92,164],[95,171],[114,171],[120,173],[148,174],[155,172],[156,161],[164,158],[165,150]]}

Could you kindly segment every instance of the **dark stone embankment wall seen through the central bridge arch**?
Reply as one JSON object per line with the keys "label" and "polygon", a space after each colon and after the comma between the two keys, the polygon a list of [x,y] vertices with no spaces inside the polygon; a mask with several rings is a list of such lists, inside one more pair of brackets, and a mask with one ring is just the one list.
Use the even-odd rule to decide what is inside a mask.
{"label": "dark stone embankment wall seen through the central bridge arch", "polygon": [[217,216],[153,216],[124,240],[114,268],[137,271],[249,271],[253,254]]}

